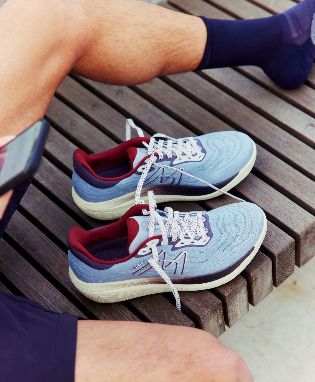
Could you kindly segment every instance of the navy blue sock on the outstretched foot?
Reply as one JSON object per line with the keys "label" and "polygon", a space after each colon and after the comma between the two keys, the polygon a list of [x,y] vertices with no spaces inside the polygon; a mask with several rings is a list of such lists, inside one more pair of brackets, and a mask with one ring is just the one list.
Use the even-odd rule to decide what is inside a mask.
{"label": "navy blue sock on the outstretched foot", "polygon": [[304,0],[279,15],[254,20],[217,20],[200,16],[208,31],[198,70],[260,66],[286,89],[307,79],[315,57],[315,0]]}

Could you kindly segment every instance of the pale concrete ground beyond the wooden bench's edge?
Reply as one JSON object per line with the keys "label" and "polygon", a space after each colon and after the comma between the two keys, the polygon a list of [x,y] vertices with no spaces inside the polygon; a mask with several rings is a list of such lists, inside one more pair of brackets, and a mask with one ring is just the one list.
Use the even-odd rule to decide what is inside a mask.
{"label": "pale concrete ground beyond the wooden bench's edge", "polygon": [[315,381],[315,259],[219,338],[239,353],[255,382]]}

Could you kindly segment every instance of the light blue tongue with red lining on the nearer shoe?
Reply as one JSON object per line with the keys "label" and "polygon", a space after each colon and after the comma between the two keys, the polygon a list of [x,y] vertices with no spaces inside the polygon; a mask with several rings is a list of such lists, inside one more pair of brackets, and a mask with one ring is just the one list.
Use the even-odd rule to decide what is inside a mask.
{"label": "light blue tongue with red lining on the nearer shoe", "polygon": [[[127,250],[130,254],[149,238],[149,216],[129,217],[127,219],[127,228]],[[154,236],[156,235],[161,235],[160,227],[157,223],[154,225]]]}

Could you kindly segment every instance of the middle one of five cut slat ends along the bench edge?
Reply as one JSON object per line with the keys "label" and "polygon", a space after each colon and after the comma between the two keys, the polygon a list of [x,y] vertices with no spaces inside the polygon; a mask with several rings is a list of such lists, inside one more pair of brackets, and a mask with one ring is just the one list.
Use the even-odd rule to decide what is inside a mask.
{"label": "middle one of five cut slat ends along the bench edge", "polygon": [[272,292],[272,265],[270,257],[258,251],[241,275],[247,281],[248,301],[257,305]]}

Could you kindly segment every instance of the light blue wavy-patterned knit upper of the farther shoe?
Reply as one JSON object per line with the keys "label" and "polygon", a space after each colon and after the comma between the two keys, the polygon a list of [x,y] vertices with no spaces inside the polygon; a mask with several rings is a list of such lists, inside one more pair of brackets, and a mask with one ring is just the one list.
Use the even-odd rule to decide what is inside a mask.
{"label": "light blue wavy-patterned knit upper of the farther shoe", "polygon": [[[221,183],[236,175],[250,160],[253,154],[252,140],[246,134],[237,131],[223,131],[217,133],[204,134],[197,137],[206,152],[200,162],[185,162],[173,165],[176,168],[183,168],[185,172],[211,183],[212,185]],[[165,155],[165,161],[160,162],[170,165],[171,161]],[[163,186],[177,184],[180,174],[170,169],[155,167],[154,171],[163,171]],[[150,174],[150,173],[149,173]],[[76,193],[88,202],[109,201],[116,197],[123,196],[131,191],[135,191],[141,173],[136,172],[128,178],[122,179],[115,186],[110,188],[97,188],[82,180],[76,172],[73,172],[73,186]],[[169,179],[167,179],[169,177]],[[174,183],[174,177],[176,181]],[[178,178],[178,179],[177,179]],[[178,183],[182,186],[204,187],[204,183],[194,180],[188,176],[182,176]],[[152,186],[161,186],[160,179],[156,179],[150,185],[144,184],[143,190],[148,191]],[[158,193],[156,193],[158,197]]]}

